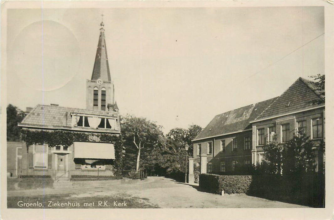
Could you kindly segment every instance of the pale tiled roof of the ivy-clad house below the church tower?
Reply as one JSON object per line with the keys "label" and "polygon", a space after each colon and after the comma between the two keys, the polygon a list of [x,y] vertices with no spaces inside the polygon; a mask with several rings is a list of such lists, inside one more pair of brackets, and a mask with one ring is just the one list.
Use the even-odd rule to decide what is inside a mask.
{"label": "pale tiled roof of the ivy-clad house below the church tower", "polygon": [[[40,105],[33,108],[30,113],[19,123],[20,127],[72,129],[71,114],[94,115],[98,117],[118,118],[117,112],[93,111],[80,108],[68,108],[56,105]],[[79,128],[75,129],[78,130]],[[89,128],[84,128],[87,130]],[[92,129],[93,130],[93,129]],[[99,129],[100,131],[106,129]],[[106,130],[106,132],[109,132]],[[119,133],[119,131],[113,131]]]}

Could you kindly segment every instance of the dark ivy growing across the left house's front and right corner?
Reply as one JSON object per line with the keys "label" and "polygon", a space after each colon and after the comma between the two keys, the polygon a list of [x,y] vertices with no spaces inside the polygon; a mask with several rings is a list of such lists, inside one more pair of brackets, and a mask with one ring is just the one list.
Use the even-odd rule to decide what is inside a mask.
{"label": "dark ivy growing across the left house's front and right corner", "polygon": [[109,133],[76,132],[76,131],[45,131],[45,130],[21,130],[22,140],[28,147],[32,144],[47,144],[49,147],[56,145],[71,146],[74,141],[92,141],[113,143],[115,148],[114,174],[121,175],[123,168],[123,138],[121,135]]}

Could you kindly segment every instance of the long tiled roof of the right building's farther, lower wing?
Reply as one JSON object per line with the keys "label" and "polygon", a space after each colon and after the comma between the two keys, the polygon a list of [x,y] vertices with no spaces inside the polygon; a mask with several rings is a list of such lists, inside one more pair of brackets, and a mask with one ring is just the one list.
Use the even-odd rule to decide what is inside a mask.
{"label": "long tiled roof of the right building's farther, lower wing", "polygon": [[258,115],[260,115],[276,98],[271,98],[266,101],[247,105],[216,115],[197,135],[194,141],[251,129],[252,126],[249,122],[253,121]]}

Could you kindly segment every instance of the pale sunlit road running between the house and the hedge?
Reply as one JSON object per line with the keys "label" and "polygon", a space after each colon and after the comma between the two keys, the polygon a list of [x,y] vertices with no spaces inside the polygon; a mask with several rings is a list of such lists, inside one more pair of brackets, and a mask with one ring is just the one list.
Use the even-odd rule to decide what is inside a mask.
{"label": "pale sunlit road running between the house and the hedge", "polygon": [[71,194],[71,197],[127,195],[147,198],[161,208],[306,208],[305,206],[270,201],[246,195],[224,196],[198,191],[198,186],[183,184],[164,177],[148,177],[129,185],[103,188],[45,189],[9,191],[8,196]]}

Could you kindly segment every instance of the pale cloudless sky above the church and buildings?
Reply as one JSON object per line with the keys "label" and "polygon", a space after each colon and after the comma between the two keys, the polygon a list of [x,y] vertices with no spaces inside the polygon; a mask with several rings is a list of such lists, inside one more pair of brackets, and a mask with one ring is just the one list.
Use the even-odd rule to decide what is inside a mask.
{"label": "pale cloudless sky above the church and buildings", "polygon": [[7,103],[85,108],[101,14],[121,115],[164,133],[324,74],[323,7],[8,9]]}

